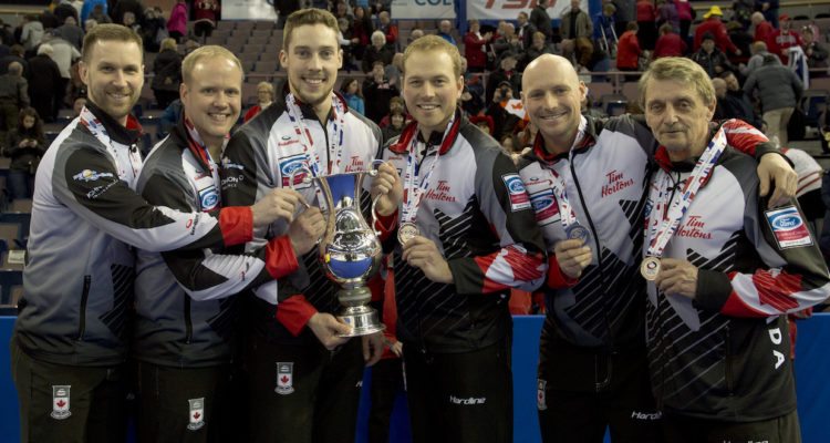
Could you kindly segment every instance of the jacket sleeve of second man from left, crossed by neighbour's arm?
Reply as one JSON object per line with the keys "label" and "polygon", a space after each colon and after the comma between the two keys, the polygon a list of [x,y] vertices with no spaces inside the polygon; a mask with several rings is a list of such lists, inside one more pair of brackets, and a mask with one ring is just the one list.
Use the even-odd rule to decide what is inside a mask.
{"label": "jacket sleeve of second man from left, crossed by neighbour's arm", "polygon": [[[197,196],[181,179],[155,173],[142,190],[147,202],[183,213],[197,212]],[[210,300],[238,293],[297,269],[291,241],[287,236],[273,238],[266,247],[243,255],[210,249],[163,253],[167,267],[178,285],[195,300]]]}

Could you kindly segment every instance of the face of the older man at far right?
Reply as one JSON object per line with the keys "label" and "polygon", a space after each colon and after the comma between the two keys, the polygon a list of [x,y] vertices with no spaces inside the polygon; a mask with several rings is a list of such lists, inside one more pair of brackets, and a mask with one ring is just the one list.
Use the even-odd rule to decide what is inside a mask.
{"label": "face of the older man at far right", "polygon": [[672,161],[699,155],[708,143],[715,102],[705,103],[688,82],[650,79],[645,84],[645,120]]}

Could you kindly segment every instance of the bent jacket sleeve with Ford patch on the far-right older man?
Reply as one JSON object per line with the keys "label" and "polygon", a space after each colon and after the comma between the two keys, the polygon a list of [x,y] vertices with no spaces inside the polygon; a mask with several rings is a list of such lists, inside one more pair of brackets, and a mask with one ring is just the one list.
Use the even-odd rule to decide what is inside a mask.
{"label": "bent jacket sleeve with Ford patch on the far-right older man", "polygon": [[[756,190],[757,194],[757,190]],[[733,317],[798,312],[830,296],[830,275],[798,205],[747,205],[744,229],[762,261],[748,271],[698,270],[695,305]]]}

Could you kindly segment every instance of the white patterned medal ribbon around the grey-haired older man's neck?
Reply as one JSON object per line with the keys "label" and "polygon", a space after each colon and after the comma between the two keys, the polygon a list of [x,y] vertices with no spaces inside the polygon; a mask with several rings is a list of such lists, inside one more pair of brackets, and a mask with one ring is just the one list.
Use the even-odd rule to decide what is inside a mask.
{"label": "white patterned medal ribbon around the grey-haired older man's neck", "polygon": [[652,214],[662,214],[665,206],[668,206],[668,212],[663,217],[662,223],[654,223],[647,228],[651,241],[649,243],[649,249],[645,253],[646,256],[660,257],[663,255],[663,250],[666,248],[668,240],[681,226],[681,222],[686,215],[688,207],[695,199],[701,186],[708,181],[717,159],[720,157],[720,154],[723,154],[725,148],[726,134],[724,133],[724,128],[720,127],[695,164],[692,175],[689,175],[686,183],[683,185],[683,192],[677,194],[672,202],[666,202],[667,197],[671,195],[671,177],[668,174],[665,174],[660,184],[657,204],[652,209]]}

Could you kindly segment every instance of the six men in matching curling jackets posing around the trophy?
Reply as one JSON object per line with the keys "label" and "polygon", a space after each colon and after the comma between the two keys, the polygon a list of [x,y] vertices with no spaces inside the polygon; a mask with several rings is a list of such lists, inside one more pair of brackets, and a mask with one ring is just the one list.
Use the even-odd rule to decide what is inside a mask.
{"label": "six men in matching curling jackets posing around the trophy", "polygon": [[508,297],[542,284],[544,441],[609,425],[614,441],[798,441],[784,313],[827,298],[830,277],[788,199],[795,174],[757,131],[709,126],[694,62],[643,78],[646,126],[583,117],[570,62],[538,58],[521,97],[539,135],[516,165],[459,111],[460,55],[439,37],[406,48],[414,121],[391,141],[333,93],[329,12],[287,19],[288,82],[232,136],[241,64],[204,47],[146,159],[129,115],[142,56],[126,28],[87,33],[87,106],[38,173],[11,344],[22,441],[122,441],[128,385],[143,442],[351,440],[363,367],[388,343],[342,337],[322,202],[294,172],[376,158],[363,192],[395,270],[414,441],[511,441]]}

